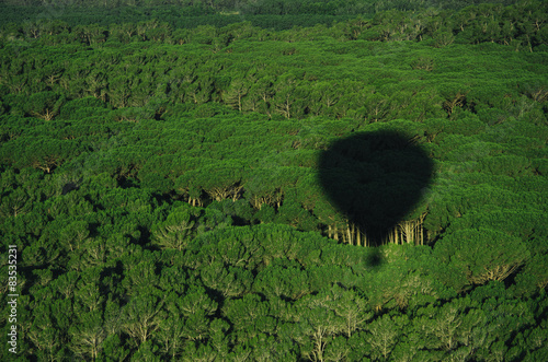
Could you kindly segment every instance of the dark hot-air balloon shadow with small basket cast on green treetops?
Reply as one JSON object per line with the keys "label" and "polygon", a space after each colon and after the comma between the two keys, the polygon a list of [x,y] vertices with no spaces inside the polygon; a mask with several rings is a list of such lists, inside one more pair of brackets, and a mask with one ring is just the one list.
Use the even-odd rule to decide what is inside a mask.
{"label": "dark hot-air balloon shadow with small basket cast on green treetops", "polygon": [[[381,245],[430,186],[433,162],[407,136],[361,132],[332,142],[320,155],[319,179],[329,201],[367,238]],[[377,256],[374,264],[380,262]]]}

